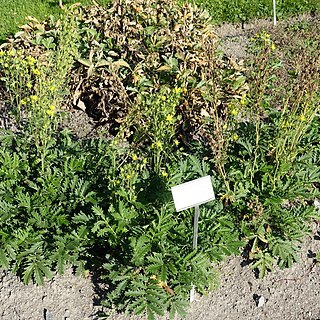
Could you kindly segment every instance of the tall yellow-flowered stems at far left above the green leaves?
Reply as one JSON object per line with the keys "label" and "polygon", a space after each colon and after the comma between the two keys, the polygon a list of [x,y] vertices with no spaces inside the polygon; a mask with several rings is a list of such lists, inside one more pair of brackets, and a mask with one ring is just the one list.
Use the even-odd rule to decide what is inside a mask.
{"label": "tall yellow-flowered stems at far left above the green leaves", "polygon": [[66,94],[68,73],[77,54],[76,21],[63,15],[57,32],[57,45],[39,57],[15,50],[10,43],[0,51],[0,73],[7,88],[9,104],[16,121],[34,140],[45,171],[47,149],[57,129],[57,112]]}

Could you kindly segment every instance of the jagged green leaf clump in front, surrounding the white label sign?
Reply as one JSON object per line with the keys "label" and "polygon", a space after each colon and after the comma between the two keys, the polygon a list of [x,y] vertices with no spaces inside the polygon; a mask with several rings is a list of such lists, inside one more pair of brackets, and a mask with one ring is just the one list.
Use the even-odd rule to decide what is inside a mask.
{"label": "jagged green leaf clump in front, surrounding the white label sign", "polygon": [[[155,314],[163,314],[167,309],[172,317],[175,312],[183,315],[192,285],[201,293],[216,286],[217,272],[212,261],[238,252],[243,245],[237,233],[231,233],[233,224],[228,217],[222,217],[223,213],[216,212],[215,207],[204,208],[199,249],[193,251],[193,213],[175,213],[168,199],[169,186],[175,185],[185,176],[199,176],[199,161],[190,157],[180,163],[174,160],[171,164],[172,160],[168,159],[168,175],[163,176],[154,171],[152,159],[149,158],[150,162],[146,165],[135,166],[137,178],[129,185],[126,181],[120,182],[125,190],[136,190],[136,196],[131,198],[129,207],[125,207],[126,222],[121,218],[121,210],[125,199],[128,201],[129,190],[114,193],[119,207],[113,204],[108,211],[93,208],[100,218],[92,229],[96,233],[97,242],[101,241],[101,246],[110,248],[105,257],[108,262],[103,265],[103,278],[110,283],[112,290],[104,304],[126,312],[144,312],[150,319]],[[201,172],[205,167],[205,163],[200,164]],[[139,187],[154,186],[154,180],[158,185],[162,184],[157,197]],[[155,191],[154,187],[152,190]],[[213,228],[213,217],[225,227]],[[127,248],[125,252],[123,248]]]}

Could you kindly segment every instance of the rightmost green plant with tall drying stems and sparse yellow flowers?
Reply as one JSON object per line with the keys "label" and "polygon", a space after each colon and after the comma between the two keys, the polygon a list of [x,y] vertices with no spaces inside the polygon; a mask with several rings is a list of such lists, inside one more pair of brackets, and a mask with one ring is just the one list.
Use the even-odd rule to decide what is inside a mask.
{"label": "rightmost green plant with tall drying stems and sparse yellow flowers", "polygon": [[[318,216],[307,201],[319,195],[320,79],[311,72],[308,79],[298,73],[287,80],[279,106],[275,81],[279,70],[284,71],[281,61],[272,58],[276,47],[270,35],[257,35],[253,49],[246,75],[249,90],[239,102],[232,102],[227,118],[226,128],[232,128],[236,138],[221,135],[228,149],[223,162],[213,163],[225,173],[223,198],[230,215],[238,215],[248,240],[248,258],[264,276],[276,261],[280,267],[290,267],[297,260],[295,243],[308,232],[306,222]],[[313,50],[309,47],[293,68],[317,65]],[[283,94],[281,86],[280,90]]]}

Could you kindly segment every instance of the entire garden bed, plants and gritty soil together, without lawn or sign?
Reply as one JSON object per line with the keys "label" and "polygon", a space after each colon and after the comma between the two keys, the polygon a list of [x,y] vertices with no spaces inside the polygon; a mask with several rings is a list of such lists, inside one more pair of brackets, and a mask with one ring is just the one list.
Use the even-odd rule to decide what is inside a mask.
{"label": "entire garden bed, plants and gritty soil together, without lawn or sign", "polygon": [[[276,28],[269,21],[222,26],[222,54],[212,60],[220,39],[207,15],[161,7],[183,21],[198,15],[206,32],[198,38],[190,23],[167,24],[161,14],[168,12],[159,14],[160,27],[139,29],[145,8],[128,3],[115,17],[101,10],[97,20],[94,8],[79,20],[33,21],[0,57],[1,125],[11,130],[1,137],[9,218],[1,221],[0,262],[25,283],[44,282],[24,285],[2,271],[0,316],[95,319],[112,307],[111,319],[136,317],[117,314],[123,310],[174,316],[184,313],[195,284],[212,293],[199,295],[187,319],[319,319],[319,17]],[[139,32],[134,41],[122,37],[121,14],[134,20],[129,29],[145,32],[145,42]],[[110,19],[110,30],[99,19]],[[70,30],[83,35],[79,42]],[[166,52],[168,35],[178,40]],[[113,50],[104,52],[108,45]],[[10,81],[12,70],[21,87]],[[67,120],[57,123],[60,111]],[[212,175],[217,199],[203,208],[200,249],[192,252],[192,212],[175,213],[168,190],[204,174]]]}

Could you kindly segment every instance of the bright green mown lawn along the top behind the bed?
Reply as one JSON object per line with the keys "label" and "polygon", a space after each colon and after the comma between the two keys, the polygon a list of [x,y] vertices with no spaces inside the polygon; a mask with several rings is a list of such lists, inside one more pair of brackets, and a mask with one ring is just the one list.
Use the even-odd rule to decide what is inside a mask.
{"label": "bright green mown lawn along the top behind the bed", "polygon": [[[100,5],[106,5],[112,0],[98,0]],[[65,0],[63,4],[81,2],[84,5],[92,4],[92,0]],[[184,1],[178,0],[179,3]],[[190,1],[193,2],[193,1]],[[216,23],[244,22],[255,18],[272,17],[271,0],[254,0],[250,4],[246,0],[195,0],[197,5],[206,8]],[[49,15],[58,15],[61,9],[58,0],[0,0],[0,43],[9,35],[18,31],[18,26],[25,23],[26,16],[34,16],[43,20]],[[305,12],[319,12],[318,0],[282,0],[277,2],[277,16],[287,18]]]}

